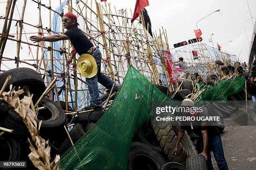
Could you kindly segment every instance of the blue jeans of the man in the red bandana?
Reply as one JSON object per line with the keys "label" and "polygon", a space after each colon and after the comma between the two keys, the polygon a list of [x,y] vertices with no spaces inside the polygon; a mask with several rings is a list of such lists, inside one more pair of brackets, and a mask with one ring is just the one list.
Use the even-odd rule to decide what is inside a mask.
{"label": "blue jeans of the man in the red bandana", "polygon": [[99,89],[98,89],[98,82],[102,84],[107,89],[111,89],[114,81],[108,78],[105,74],[100,72],[100,65],[101,65],[101,52],[99,48],[92,54],[95,58],[97,63],[97,74],[92,78],[86,78],[86,83],[88,85],[89,93],[91,96],[90,104],[95,107],[102,107],[102,103],[100,101]]}

